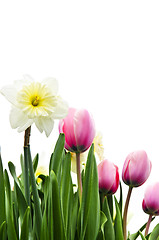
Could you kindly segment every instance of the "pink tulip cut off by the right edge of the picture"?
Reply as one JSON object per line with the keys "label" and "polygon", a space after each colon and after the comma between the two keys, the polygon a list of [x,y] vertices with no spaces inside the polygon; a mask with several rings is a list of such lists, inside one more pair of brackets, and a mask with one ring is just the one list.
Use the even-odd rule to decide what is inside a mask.
{"label": "pink tulip cut off by the right edge of the picture", "polygon": [[145,213],[155,216],[159,215],[159,182],[147,187],[142,208]]}

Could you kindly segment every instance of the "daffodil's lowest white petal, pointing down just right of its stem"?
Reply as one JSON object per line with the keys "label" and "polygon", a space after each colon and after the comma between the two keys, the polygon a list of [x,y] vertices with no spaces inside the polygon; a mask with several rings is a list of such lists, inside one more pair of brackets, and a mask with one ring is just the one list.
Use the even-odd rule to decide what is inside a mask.
{"label": "daffodil's lowest white petal, pointing down just right of its stem", "polygon": [[54,127],[54,120],[48,117],[40,117],[34,120],[36,127],[40,132],[45,132],[48,137]]}

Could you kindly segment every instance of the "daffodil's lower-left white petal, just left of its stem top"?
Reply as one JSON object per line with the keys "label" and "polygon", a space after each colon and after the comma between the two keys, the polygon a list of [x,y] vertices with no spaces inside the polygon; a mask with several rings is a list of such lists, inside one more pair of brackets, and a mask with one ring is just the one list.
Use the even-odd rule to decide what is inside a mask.
{"label": "daffodil's lower-left white petal, just left of its stem top", "polygon": [[18,108],[13,107],[10,112],[10,124],[12,128],[18,128],[18,132],[25,131],[33,123],[28,117]]}

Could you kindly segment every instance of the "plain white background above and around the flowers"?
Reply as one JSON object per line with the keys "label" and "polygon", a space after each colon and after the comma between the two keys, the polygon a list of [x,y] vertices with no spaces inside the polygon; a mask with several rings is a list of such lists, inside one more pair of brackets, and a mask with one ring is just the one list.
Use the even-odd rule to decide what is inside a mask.
{"label": "plain white background above and around the flowers", "polygon": [[[0,88],[23,74],[37,81],[55,77],[70,106],[93,114],[105,157],[119,166],[120,176],[128,153],[144,149],[151,159],[150,178],[132,193],[131,232],[148,218],[141,208],[146,185],[159,181],[158,13],[158,1],[0,2]],[[0,111],[3,163],[13,161],[19,171],[23,133],[11,129],[3,96]],[[57,125],[48,139],[32,128],[33,155],[39,152],[45,165]]]}

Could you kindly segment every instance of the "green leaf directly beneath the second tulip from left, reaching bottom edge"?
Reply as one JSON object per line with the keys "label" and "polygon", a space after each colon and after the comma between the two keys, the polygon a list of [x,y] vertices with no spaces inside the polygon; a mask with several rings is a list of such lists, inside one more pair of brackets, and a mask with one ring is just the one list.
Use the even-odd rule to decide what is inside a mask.
{"label": "green leaf directly beneath the second tulip from left, reaching bottom edge", "polygon": [[104,225],[105,238],[108,240],[115,240],[114,226],[113,226],[112,216],[110,213],[107,197],[104,198],[103,212],[105,213],[105,216],[107,218],[107,221]]}

